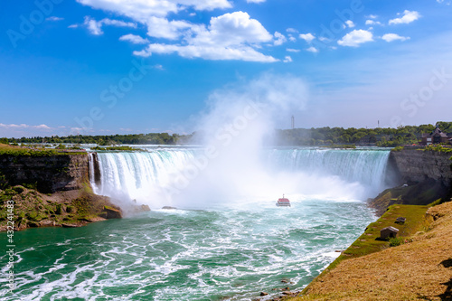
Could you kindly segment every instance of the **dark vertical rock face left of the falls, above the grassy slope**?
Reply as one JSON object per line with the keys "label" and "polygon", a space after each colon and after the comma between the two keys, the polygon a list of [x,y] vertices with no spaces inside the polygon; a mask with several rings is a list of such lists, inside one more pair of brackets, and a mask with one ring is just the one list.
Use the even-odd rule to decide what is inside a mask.
{"label": "dark vertical rock face left of the falls, above the grassy slope", "polygon": [[88,155],[0,155],[0,173],[11,185],[36,184],[42,193],[80,189],[88,181]]}

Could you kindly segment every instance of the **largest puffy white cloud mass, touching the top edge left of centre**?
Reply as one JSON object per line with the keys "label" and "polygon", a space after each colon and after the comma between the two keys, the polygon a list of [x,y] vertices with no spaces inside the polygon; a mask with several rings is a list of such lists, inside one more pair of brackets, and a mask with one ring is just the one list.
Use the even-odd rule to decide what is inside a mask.
{"label": "largest puffy white cloud mass, touching the top edge left of centre", "polygon": [[[77,0],[83,5],[122,14],[147,26],[147,35],[170,42],[150,41],[146,49],[134,52],[139,56],[152,53],[177,53],[186,58],[206,60],[278,61],[256,49],[263,42],[280,45],[287,41],[282,33],[275,38],[250,14],[234,12],[212,17],[209,24],[193,24],[184,20],[168,20],[168,14],[177,14],[187,7],[195,10],[230,8],[227,0]],[[104,19],[105,20],[105,19]],[[90,18],[85,20],[89,31],[102,34],[102,25]],[[124,23],[126,24],[126,23]],[[137,25],[135,25],[137,26]],[[129,42],[143,42],[136,37],[122,38]],[[210,53],[213,52],[213,53]]]}

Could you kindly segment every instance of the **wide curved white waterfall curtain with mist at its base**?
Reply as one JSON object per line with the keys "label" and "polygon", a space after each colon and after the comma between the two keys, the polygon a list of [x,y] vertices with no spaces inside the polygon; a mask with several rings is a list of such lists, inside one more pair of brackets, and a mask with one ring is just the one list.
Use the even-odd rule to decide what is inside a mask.
{"label": "wide curved white waterfall curtain with mist at its base", "polygon": [[[281,193],[363,199],[383,189],[388,157],[387,150],[294,148],[262,150],[258,163],[221,158],[205,162],[202,149],[151,149],[96,154],[99,179],[94,180],[94,164],[90,178],[95,193],[151,208],[265,202]],[[206,195],[208,203],[202,202]]]}

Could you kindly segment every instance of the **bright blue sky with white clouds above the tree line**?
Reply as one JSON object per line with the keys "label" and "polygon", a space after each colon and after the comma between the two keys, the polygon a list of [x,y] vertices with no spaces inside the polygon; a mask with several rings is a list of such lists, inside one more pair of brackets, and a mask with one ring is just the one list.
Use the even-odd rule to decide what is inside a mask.
{"label": "bright blue sky with white clouds above the tree line", "polygon": [[278,128],[450,120],[449,0],[5,0],[0,19],[0,136],[190,133],[262,74],[309,90]]}

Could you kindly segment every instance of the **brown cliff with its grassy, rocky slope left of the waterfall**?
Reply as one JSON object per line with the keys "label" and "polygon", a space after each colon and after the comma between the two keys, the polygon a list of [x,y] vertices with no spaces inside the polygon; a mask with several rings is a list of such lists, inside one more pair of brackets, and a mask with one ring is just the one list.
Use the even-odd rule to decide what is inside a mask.
{"label": "brown cliff with its grassy, rocky slope left of the waterfall", "polygon": [[[22,149],[10,153],[0,155],[0,231],[12,230],[12,221],[14,230],[24,230],[72,228],[122,217],[108,197],[92,193],[88,154]],[[7,208],[11,202],[12,217]]]}

